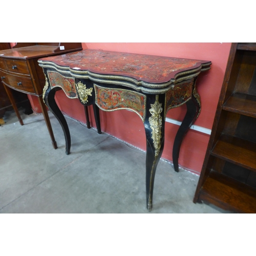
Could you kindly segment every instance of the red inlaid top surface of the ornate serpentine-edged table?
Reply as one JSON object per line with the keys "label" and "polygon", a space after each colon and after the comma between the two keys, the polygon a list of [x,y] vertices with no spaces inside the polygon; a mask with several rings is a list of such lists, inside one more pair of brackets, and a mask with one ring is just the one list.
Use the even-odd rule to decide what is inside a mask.
{"label": "red inlaid top surface of the ornate serpentine-edged table", "polygon": [[179,72],[193,70],[210,61],[172,58],[101,50],[83,50],[41,58],[73,70],[90,71],[102,75],[135,78],[150,83],[163,83]]}

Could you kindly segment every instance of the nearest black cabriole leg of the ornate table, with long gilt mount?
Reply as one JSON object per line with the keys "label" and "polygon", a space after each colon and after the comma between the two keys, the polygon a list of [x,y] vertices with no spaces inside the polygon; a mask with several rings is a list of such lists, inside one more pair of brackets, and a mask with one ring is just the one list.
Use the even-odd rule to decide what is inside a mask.
{"label": "nearest black cabriole leg of the ornate table, with long gilt mount", "polygon": [[157,164],[164,147],[164,104],[159,102],[156,95],[155,103],[147,108],[144,121],[146,133],[146,207],[148,211],[153,207],[153,189]]}

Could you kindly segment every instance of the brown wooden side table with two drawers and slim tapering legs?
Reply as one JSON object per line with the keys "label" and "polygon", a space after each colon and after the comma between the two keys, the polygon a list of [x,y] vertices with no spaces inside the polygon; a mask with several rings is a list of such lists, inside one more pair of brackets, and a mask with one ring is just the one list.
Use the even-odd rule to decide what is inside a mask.
{"label": "brown wooden side table with two drawers and slim tapering legs", "polygon": [[35,95],[44,115],[54,148],[57,148],[52,132],[45,103],[42,101],[42,90],[45,86],[45,75],[38,66],[41,57],[59,55],[82,50],[81,43],[18,43],[13,49],[0,51],[0,77],[12,103],[13,109],[21,125],[23,120],[19,115],[12,89],[26,94]]}

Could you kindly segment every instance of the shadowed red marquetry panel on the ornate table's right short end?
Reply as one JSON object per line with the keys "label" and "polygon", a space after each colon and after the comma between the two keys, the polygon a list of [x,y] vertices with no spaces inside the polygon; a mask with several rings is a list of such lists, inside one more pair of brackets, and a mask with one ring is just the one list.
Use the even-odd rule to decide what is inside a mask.
{"label": "shadowed red marquetry panel on the ornate table's right short end", "polygon": [[187,81],[175,84],[175,87],[167,92],[165,113],[167,113],[169,109],[177,108],[177,106],[184,104],[191,98],[193,84],[194,79],[189,79]]}

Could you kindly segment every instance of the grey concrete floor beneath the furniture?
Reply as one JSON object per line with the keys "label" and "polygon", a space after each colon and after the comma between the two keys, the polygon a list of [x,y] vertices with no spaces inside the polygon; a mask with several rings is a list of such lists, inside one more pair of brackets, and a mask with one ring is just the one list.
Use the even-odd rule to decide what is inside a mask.
{"label": "grey concrete floor beneath the furniture", "polygon": [[199,176],[160,160],[153,210],[146,209],[145,152],[107,134],[99,135],[66,117],[71,154],[49,112],[58,148],[54,150],[42,115],[25,115],[20,125],[13,111],[0,126],[0,213],[225,213],[194,204]]}

